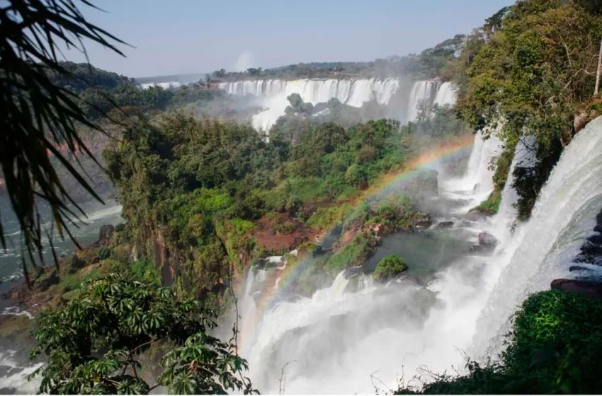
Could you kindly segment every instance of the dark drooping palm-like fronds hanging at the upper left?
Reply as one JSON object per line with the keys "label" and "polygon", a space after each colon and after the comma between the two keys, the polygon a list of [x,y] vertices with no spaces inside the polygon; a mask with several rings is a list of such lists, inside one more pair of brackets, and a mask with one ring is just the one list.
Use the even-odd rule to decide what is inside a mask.
{"label": "dark drooping palm-like fronds hanging at the upper left", "polygon": [[[81,2],[96,8],[89,0]],[[125,43],[89,23],[72,0],[8,0],[0,8],[0,21],[1,170],[23,243],[35,265],[35,253],[42,260],[42,238],[47,236],[52,248],[56,227],[62,238],[67,234],[74,240],[69,223],[84,214],[59,180],[52,157],[89,194],[101,200],[57,148],[66,144],[70,151],[77,148],[93,158],[77,127],[82,124],[101,130],[87,119],[76,93],[52,83],[50,74],[76,80],[59,63],[57,42],[85,53],[81,42],[87,39],[122,55],[116,45]],[[36,204],[39,199],[52,209],[50,229],[42,225]],[[1,219],[0,245],[6,248]],[[23,269],[27,276],[25,260]]]}

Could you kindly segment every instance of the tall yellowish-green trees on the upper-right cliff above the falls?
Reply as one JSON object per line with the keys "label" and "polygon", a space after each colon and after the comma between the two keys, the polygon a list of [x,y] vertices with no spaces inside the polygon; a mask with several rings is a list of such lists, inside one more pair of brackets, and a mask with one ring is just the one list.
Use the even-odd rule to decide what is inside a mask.
{"label": "tall yellowish-green trees on the upper-right cliff above the falls", "polygon": [[508,148],[535,136],[533,168],[515,170],[521,219],[577,132],[575,116],[594,93],[601,37],[596,0],[518,1],[475,30],[448,64],[460,84],[458,112],[471,127],[499,127]]}

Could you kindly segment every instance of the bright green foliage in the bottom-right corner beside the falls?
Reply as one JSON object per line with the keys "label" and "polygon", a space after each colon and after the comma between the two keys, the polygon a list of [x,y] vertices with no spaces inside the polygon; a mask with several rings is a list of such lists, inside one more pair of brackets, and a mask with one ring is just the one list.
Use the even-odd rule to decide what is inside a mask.
{"label": "bright green foliage in the bottom-right corner beside the falls", "polygon": [[435,375],[424,394],[594,394],[602,389],[602,301],[580,293],[533,294],[514,317],[499,363],[468,375]]}

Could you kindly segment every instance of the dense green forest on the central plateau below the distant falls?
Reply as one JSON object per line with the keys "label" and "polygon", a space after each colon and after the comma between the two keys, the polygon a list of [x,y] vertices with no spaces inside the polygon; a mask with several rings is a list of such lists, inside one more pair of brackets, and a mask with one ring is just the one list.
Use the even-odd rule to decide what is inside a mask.
{"label": "dense green forest on the central plateau below the distant falls", "polygon": [[406,158],[391,120],[348,129],[307,123],[294,133],[273,130],[266,142],[248,125],[178,112],[127,128],[103,157],[137,252],[168,265],[178,291],[222,291],[231,264],[242,269],[262,254],[253,237],[262,216],[274,235],[295,231],[286,216],[333,226],[343,214],[336,204]]}

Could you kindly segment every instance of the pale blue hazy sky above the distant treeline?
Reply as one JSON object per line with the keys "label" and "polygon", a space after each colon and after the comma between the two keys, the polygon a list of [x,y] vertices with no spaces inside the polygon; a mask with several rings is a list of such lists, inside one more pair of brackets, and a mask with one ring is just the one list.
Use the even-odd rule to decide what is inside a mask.
{"label": "pale blue hazy sky above the distant treeline", "polygon": [[[130,77],[419,53],[470,33],[512,0],[95,0],[92,23],[132,47],[86,44],[91,64]],[[67,59],[84,62],[79,52]]]}

